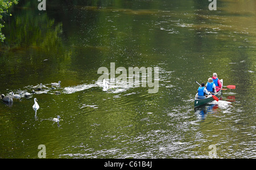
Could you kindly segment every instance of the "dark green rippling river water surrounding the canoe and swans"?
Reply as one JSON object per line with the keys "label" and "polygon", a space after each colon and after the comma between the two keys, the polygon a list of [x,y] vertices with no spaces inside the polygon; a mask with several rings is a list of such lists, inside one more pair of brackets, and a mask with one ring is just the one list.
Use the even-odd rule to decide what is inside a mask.
{"label": "dark green rippling river water surrounding the canoe and swans", "polygon": [[[19,1],[5,18],[0,93],[47,88],[11,106],[1,101],[0,157],[37,158],[44,144],[47,158],[208,158],[214,144],[217,158],[255,158],[255,2],[208,5],[47,1],[39,11],[38,2]],[[158,67],[158,93],[103,91],[97,70],[110,63]],[[195,80],[213,72],[236,89],[194,109]]]}

